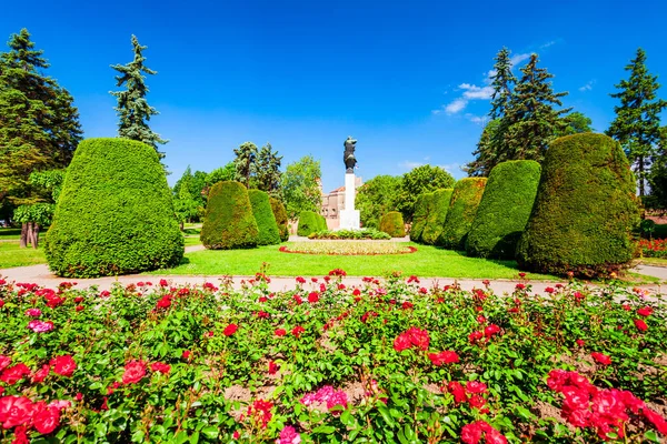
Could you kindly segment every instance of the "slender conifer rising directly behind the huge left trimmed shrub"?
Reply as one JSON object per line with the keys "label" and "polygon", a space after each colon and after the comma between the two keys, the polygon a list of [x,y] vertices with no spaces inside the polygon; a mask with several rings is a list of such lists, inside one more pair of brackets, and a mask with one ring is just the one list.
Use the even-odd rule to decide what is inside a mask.
{"label": "slender conifer rising directly behind the huge left trimmed shrub", "polygon": [[110,94],[118,101],[118,105],[115,108],[120,118],[118,137],[143,142],[152,147],[160,155],[160,159],[162,159],[165,154],[158,150],[158,144],[165,144],[167,140],[161,139],[148,125],[151,115],[157,115],[159,112],[149,105],[146,100],[149,90],[143,75],[153,75],[157,74],[157,71],[143,64],[146,58],[142,51],[148,47],[139,44],[139,40],[135,36],[132,36],[132,47],[135,51],[133,61],[127,64],[111,65],[111,68],[120,72],[120,75],[116,75],[116,85],[126,85],[127,88],[123,91],[110,91]]}

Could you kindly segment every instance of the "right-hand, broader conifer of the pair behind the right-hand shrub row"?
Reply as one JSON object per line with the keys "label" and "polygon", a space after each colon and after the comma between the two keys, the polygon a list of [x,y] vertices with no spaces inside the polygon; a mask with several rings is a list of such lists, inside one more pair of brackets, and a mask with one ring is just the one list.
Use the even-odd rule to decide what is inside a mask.
{"label": "right-hand, broader conifer of the pair behind the right-hand shrub row", "polygon": [[[560,98],[567,92],[554,92],[548,80],[554,74],[537,68],[537,54],[521,68],[522,77],[511,94],[506,115],[497,135],[497,161],[535,160],[541,162],[550,141],[567,128],[563,115],[570,108],[561,107]],[[490,171],[490,170],[489,170]]]}

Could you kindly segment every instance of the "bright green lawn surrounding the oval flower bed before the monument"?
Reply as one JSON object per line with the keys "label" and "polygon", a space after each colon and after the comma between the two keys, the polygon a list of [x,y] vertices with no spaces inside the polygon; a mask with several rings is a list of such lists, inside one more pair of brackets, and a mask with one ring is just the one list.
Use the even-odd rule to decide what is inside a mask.
{"label": "bright green lawn surrounding the oval flower bed before the monument", "polygon": [[[289,246],[291,243],[288,243]],[[334,269],[342,269],[352,276],[378,276],[392,271],[418,276],[446,276],[470,279],[516,279],[515,261],[489,261],[467,258],[462,252],[435,246],[407,243],[417,248],[411,254],[375,256],[342,256],[281,253],[277,245],[251,250],[205,250],[186,254],[175,269],[159,270],[152,274],[229,274],[252,275],[268,263],[267,273],[272,276],[323,275]],[[556,279],[528,273],[534,280]]]}

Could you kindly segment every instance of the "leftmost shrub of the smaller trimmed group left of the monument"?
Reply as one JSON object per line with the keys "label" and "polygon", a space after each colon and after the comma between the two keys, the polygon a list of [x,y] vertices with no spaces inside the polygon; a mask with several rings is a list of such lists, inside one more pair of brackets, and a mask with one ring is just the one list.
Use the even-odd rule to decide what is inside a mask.
{"label": "leftmost shrub of the smaller trimmed group left of the monument", "polygon": [[211,186],[200,238],[210,250],[257,246],[259,229],[242,183],[225,181]]}

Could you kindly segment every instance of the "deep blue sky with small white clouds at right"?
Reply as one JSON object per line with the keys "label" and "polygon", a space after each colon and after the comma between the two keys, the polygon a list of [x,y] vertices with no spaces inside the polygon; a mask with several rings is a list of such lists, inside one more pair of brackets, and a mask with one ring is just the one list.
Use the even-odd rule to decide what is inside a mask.
{"label": "deep blue sky with small white clouds at right", "polygon": [[[487,75],[508,47],[530,52],[569,91],[565,105],[604,131],[614,84],[638,47],[667,83],[660,1],[79,1],[9,2],[0,38],[28,28],[47,71],[74,97],[86,137],[113,137],[115,71],[148,46],[153,130],[173,183],[211,171],[245,141],[283,165],[312,154],[326,190],[344,183],[342,142],[358,139],[358,174],[430,163],[465,174],[488,113]],[[454,3],[454,2],[451,2]],[[661,89],[667,99],[667,84]]]}

